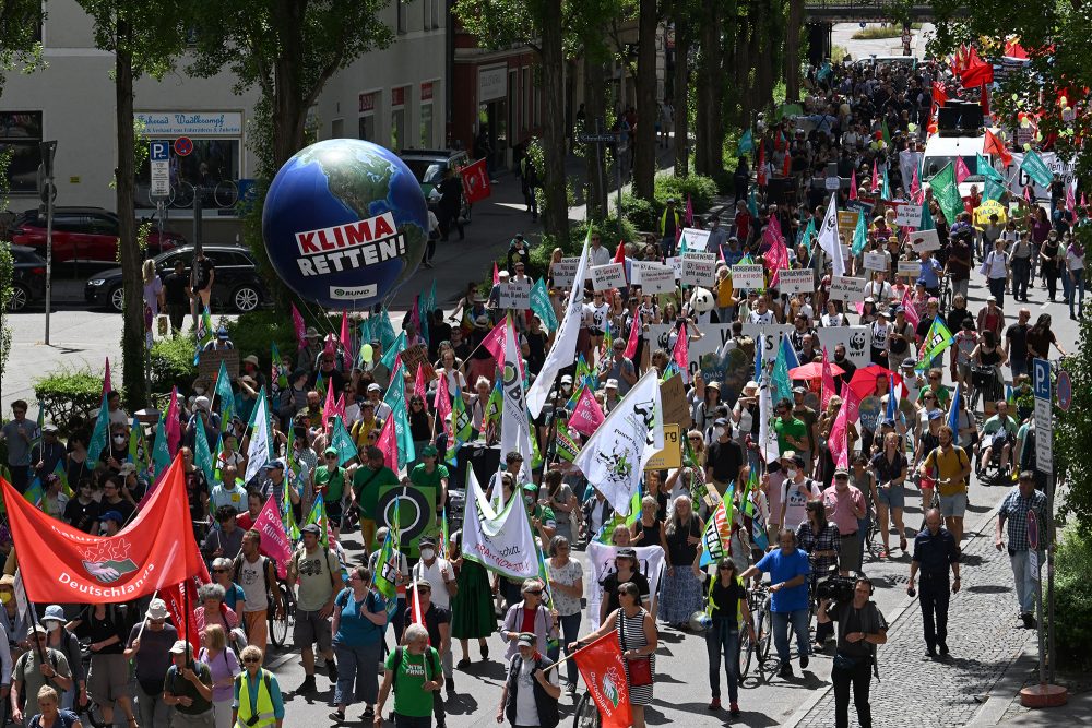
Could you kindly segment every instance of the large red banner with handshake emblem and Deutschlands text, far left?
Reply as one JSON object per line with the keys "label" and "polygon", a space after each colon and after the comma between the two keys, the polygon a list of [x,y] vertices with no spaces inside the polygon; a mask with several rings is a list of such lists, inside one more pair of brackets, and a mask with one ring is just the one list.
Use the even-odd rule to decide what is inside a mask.
{"label": "large red banner with handshake emblem and Deutschlands text, far left", "polygon": [[190,576],[207,578],[193,539],[182,461],[117,536],[91,536],[46,515],[0,478],[26,596],[38,604],[130,601]]}

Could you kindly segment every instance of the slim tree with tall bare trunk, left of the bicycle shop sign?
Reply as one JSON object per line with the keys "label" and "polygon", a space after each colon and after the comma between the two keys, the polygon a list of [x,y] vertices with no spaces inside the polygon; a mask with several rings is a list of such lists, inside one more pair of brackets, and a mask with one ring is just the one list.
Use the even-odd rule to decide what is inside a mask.
{"label": "slim tree with tall bare trunk, left of the bicycle shop sign", "polygon": [[114,53],[118,160],[114,170],[118,208],[124,310],[122,311],[122,383],[126,405],[135,411],[149,404],[144,379],[144,291],[141,263],[146,240],[138,241],[136,146],[133,83],[143,75],[162,79],[186,49],[187,16],[164,0],[78,0],[95,24],[95,45]]}

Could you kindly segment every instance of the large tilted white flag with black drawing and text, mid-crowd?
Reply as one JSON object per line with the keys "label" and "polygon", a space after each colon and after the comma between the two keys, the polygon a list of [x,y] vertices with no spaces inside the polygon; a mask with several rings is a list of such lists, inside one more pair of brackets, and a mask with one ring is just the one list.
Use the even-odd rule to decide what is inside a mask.
{"label": "large tilted white flag with black drawing and text, mid-crowd", "polygon": [[619,515],[628,515],[630,499],[649,460],[664,449],[664,413],[660,375],[653,368],[638,380],[595,433],[574,464]]}

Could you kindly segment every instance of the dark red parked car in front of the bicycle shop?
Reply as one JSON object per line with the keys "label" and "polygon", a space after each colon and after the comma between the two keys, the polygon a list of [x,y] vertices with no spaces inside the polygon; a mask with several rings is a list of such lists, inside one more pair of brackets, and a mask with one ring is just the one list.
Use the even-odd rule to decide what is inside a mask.
{"label": "dark red parked car in front of the bicycle shop", "polygon": [[[117,263],[118,216],[103,207],[54,208],[54,262]],[[38,208],[27,210],[11,224],[11,241],[29,246],[45,258],[46,214]],[[149,252],[154,254],[186,244],[186,239],[175,232],[157,230],[147,236]]]}

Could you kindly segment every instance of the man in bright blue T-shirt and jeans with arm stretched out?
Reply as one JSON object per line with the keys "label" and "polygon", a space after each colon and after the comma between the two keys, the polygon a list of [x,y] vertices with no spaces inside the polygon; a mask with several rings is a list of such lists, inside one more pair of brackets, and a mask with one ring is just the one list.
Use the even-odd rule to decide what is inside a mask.
{"label": "man in bright blue T-shirt and jeans with arm stretched out", "polygon": [[773,642],[778,647],[782,678],[793,676],[788,661],[788,626],[796,633],[796,647],[800,654],[800,670],[808,666],[808,576],[811,564],[808,554],[796,547],[796,534],[785,528],[778,535],[781,548],[770,551],[740,576],[750,578],[759,572],[769,573],[770,612],[773,616]]}

